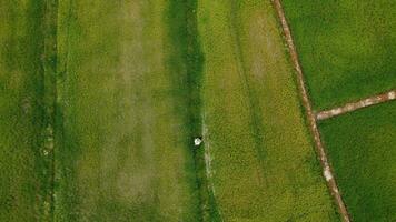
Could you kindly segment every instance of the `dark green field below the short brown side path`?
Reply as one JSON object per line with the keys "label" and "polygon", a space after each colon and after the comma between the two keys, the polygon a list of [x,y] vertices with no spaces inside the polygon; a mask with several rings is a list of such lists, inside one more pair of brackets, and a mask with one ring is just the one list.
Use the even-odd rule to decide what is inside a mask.
{"label": "dark green field below the short brown side path", "polygon": [[396,102],[320,123],[353,221],[396,219]]}

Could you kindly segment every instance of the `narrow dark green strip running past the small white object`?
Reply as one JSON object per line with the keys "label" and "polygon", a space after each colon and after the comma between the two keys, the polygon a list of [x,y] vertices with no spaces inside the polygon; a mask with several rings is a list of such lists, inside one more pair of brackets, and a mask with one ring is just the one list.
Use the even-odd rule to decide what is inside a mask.
{"label": "narrow dark green strip running past the small white object", "polygon": [[[182,102],[182,105],[177,107],[177,113],[185,119],[186,130],[188,131],[186,143],[189,147],[192,145],[194,138],[201,135],[202,121],[200,91],[204,58],[198,39],[196,8],[196,0],[175,0],[169,3],[166,18],[171,46],[174,46],[167,65],[170,70],[175,70],[170,72],[171,80],[175,83],[174,89],[178,89],[175,99]],[[180,69],[181,72],[178,71]],[[214,221],[218,218],[218,212],[212,200],[212,193],[208,192],[204,149],[192,149],[190,152],[194,155],[196,172],[196,186],[194,189],[198,189],[198,206],[201,208],[196,220]]]}

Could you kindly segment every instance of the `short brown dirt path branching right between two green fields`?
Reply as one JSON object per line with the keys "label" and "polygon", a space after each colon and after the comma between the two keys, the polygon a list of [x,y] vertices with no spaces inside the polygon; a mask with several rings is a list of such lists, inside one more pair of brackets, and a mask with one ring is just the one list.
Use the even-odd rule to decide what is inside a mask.
{"label": "short brown dirt path branching right between two green fields", "polygon": [[359,110],[359,109],[367,108],[370,105],[379,104],[383,102],[388,102],[392,100],[396,100],[396,89],[390,90],[388,92],[380,93],[380,94],[376,94],[376,95],[373,95],[369,98],[365,98],[365,99],[362,99],[356,102],[349,102],[343,107],[320,111],[316,114],[316,119],[317,120],[326,120],[326,119],[329,119],[333,117],[353,112],[355,110]]}

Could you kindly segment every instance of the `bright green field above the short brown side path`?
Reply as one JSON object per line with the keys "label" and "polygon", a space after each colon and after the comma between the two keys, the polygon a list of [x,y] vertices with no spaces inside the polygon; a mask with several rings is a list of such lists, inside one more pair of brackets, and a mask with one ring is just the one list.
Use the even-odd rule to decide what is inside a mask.
{"label": "bright green field above the short brown side path", "polygon": [[396,88],[393,0],[284,0],[316,109]]}

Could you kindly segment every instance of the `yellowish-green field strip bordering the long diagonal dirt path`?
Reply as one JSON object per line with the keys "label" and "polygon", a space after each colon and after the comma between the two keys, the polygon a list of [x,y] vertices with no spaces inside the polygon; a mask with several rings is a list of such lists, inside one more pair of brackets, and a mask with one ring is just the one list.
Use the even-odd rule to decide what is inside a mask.
{"label": "yellowish-green field strip bordering the long diagonal dirt path", "polygon": [[270,1],[200,1],[206,149],[224,221],[337,221]]}

